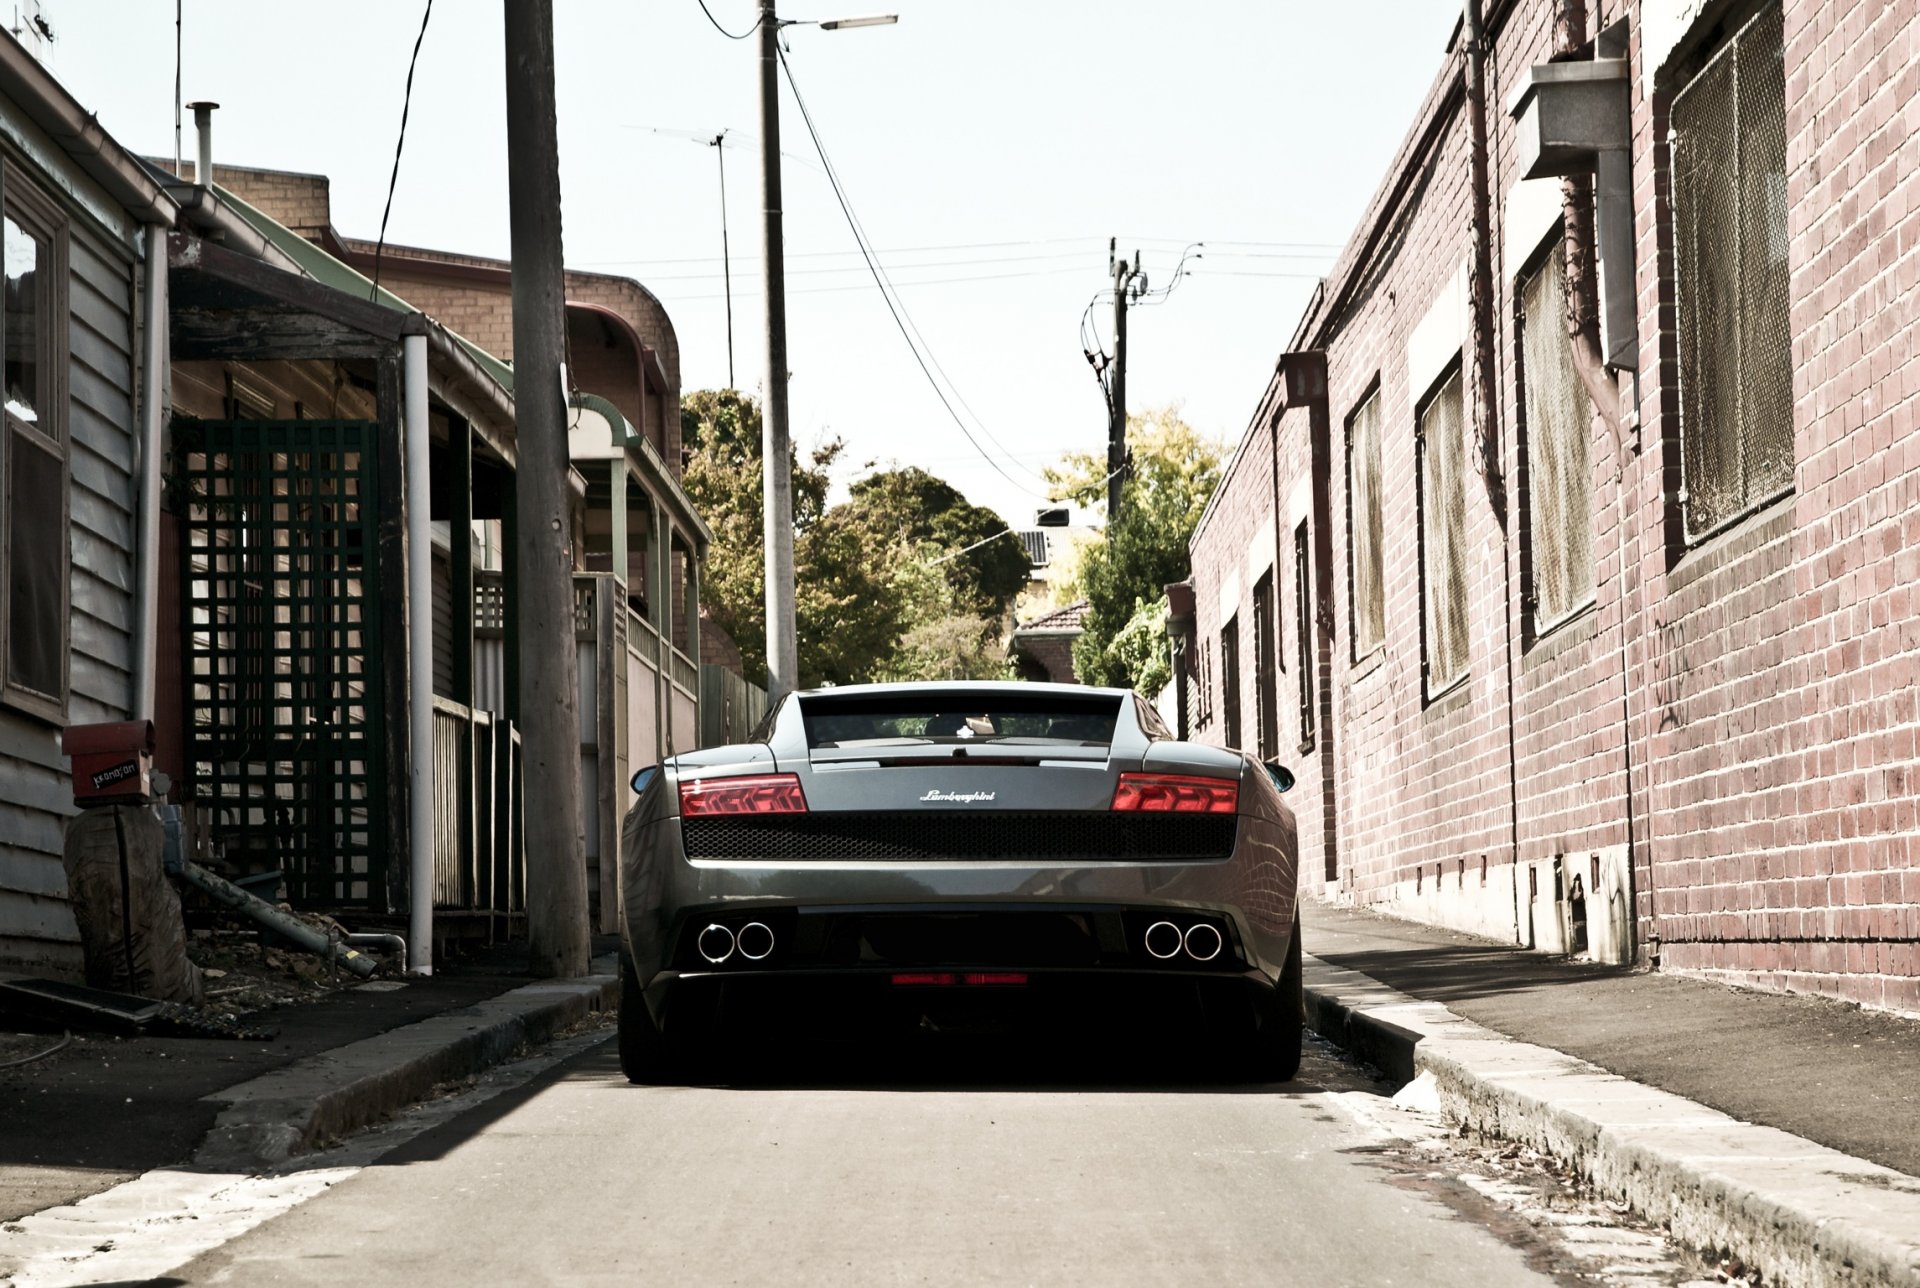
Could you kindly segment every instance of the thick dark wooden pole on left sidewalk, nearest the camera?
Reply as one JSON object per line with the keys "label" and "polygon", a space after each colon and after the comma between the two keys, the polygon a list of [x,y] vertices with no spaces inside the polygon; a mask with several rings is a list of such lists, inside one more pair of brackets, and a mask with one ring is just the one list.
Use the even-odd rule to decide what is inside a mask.
{"label": "thick dark wooden pole on left sidewalk, nearest the camera", "polygon": [[[526,939],[534,975],[588,973],[580,835],[572,501],[566,488],[566,278],[553,106],[553,0],[505,0],[507,213],[513,228],[520,747],[526,766]],[[426,749],[415,749],[426,754]]]}

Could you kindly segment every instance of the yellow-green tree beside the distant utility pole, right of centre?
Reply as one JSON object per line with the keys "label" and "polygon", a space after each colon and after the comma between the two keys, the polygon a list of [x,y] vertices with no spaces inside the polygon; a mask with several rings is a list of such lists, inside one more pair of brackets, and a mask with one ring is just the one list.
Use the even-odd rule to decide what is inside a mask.
{"label": "yellow-green tree beside the distant utility pole, right of centre", "polygon": [[[1073,672],[1083,683],[1144,689],[1154,678],[1148,658],[1137,645],[1116,643],[1169,582],[1187,578],[1187,541],[1219,486],[1225,449],[1167,407],[1127,418],[1127,453],[1119,518],[1108,522],[1104,543],[1087,547],[1079,570],[1087,616],[1073,641]],[[1046,470],[1046,482],[1058,499],[1104,503],[1106,457],[1068,455]]]}

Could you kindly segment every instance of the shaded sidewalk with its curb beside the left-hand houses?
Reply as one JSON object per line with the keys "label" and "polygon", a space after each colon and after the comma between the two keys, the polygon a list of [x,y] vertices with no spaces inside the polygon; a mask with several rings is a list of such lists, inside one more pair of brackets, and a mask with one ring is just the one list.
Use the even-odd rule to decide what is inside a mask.
{"label": "shaded sidewalk with its curb beside the left-hand houses", "polygon": [[524,956],[248,1015],[273,1042],[50,1035],[44,1060],[0,1069],[0,1221],[156,1167],[269,1167],[614,1008],[612,956],[568,981],[528,979]]}

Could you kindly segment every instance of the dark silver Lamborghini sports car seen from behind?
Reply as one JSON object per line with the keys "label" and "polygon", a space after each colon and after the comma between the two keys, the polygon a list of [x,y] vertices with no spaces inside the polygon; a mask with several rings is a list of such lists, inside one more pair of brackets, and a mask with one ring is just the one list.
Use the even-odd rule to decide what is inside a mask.
{"label": "dark silver Lamborghini sports car seen from behind", "polygon": [[916,1029],[1173,1021],[1235,1077],[1300,1063],[1292,783],[1127,689],[795,693],[634,775],[620,1067],[705,1067],[749,1015]]}

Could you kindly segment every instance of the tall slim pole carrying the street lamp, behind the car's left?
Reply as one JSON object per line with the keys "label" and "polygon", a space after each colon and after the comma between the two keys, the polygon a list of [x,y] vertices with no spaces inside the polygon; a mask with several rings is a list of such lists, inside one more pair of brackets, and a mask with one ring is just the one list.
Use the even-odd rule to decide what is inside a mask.
{"label": "tall slim pole carrying the street lamp, behind the car's left", "polygon": [[760,184],[766,194],[766,403],[760,465],[766,495],[766,701],[793,693],[793,461],[787,434],[787,269],[780,211],[780,17],[760,0]]}

